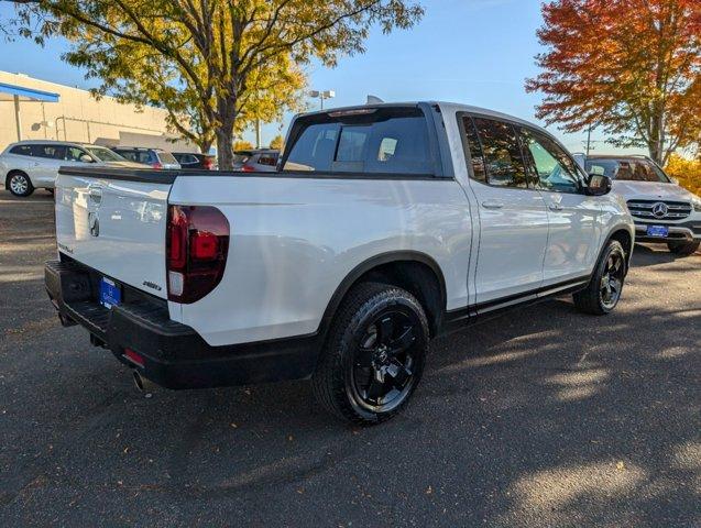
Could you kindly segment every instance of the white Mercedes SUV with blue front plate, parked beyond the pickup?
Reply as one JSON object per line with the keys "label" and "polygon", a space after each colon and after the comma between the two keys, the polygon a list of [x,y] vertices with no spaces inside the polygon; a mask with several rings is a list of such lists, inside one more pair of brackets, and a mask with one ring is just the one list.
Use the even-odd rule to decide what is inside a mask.
{"label": "white Mercedes SUV with blue front plate, parked beyond the pickup", "polygon": [[669,251],[692,255],[701,245],[701,198],[665,174],[645,156],[590,156],[589,174],[613,179],[635,219],[636,242],[667,243]]}

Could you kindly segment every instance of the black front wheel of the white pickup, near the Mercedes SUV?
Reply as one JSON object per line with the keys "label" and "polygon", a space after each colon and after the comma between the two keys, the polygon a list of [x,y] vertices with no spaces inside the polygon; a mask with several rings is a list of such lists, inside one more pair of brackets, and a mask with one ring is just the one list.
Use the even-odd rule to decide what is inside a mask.
{"label": "black front wheel of the white pickup, near the Mercedes SUV", "polygon": [[574,306],[584,314],[603,316],[613,311],[621,300],[627,262],[621,242],[609,241],[601,254],[594,274],[585,289],[577,292],[572,298]]}

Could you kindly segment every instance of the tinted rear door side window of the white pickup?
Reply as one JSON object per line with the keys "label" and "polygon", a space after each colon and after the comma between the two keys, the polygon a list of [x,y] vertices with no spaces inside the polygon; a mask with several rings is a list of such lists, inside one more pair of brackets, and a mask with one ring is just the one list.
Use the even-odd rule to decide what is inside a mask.
{"label": "tinted rear door side window of the white pickup", "polygon": [[516,131],[510,123],[474,118],[488,183],[495,187],[528,188]]}

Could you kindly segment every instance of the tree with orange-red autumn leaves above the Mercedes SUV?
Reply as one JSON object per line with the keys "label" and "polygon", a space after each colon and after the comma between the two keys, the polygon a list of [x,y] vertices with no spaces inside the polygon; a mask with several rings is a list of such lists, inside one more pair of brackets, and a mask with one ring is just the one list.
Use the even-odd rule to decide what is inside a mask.
{"label": "tree with orange-red autumn leaves above the Mercedes SUV", "polygon": [[665,164],[701,143],[701,0],[555,0],[538,30],[537,116],[568,132],[602,127]]}

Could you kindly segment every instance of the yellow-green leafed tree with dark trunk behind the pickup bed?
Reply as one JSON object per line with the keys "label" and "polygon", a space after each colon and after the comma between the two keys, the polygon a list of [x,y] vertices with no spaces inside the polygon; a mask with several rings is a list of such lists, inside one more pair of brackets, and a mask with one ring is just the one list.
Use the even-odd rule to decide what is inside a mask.
{"label": "yellow-green leafed tree with dark trunk behind the pickup bed", "polygon": [[74,47],[66,58],[103,79],[98,92],[164,106],[171,124],[183,135],[201,138],[200,147],[216,142],[222,169],[232,167],[237,131],[261,114],[278,117],[285,101],[294,100],[294,92],[304,86],[298,65],[317,57],[335,66],[340,55],[364,51],[373,24],[390,32],[409,28],[423,14],[409,0],[18,4],[22,34],[41,40],[57,32],[70,38]]}

